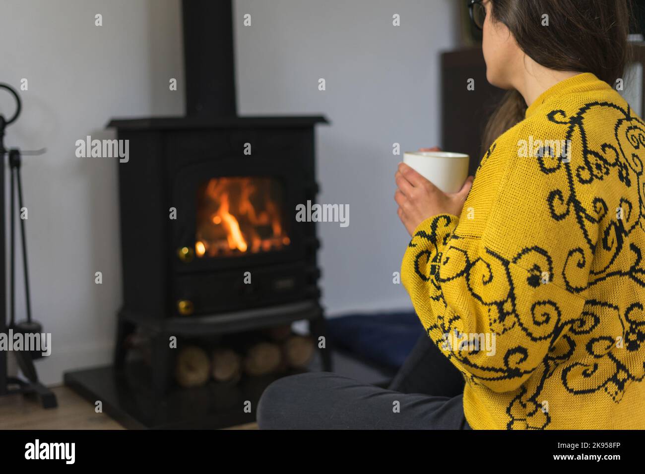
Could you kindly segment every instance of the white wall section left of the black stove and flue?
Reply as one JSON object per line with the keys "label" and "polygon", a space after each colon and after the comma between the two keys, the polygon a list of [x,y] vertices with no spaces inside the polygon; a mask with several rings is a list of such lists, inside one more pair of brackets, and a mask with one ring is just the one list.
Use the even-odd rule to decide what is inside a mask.
{"label": "white wall section left of the black stove and flue", "polygon": [[168,90],[183,78],[179,12],[177,0],[3,0],[0,81],[28,79],[6,144],[47,148],[23,169],[32,312],[52,332],[52,355],[37,362],[45,382],[110,360],[121,304],[117,167],[75,157],[75,141],[106,137],[114,116],[183,112],[182,92]]}

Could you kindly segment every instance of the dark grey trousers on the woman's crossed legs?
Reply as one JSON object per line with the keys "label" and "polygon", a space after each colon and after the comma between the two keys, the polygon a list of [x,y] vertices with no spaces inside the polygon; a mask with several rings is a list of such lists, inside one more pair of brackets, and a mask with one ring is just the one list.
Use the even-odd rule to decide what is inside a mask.
{"label": "dark grey trousers on the woman's crossed legs", "polygon": [[470,430],[464,379],[422,333],[388,389],[330,372],[275,380],[257,407],[261,430]]}

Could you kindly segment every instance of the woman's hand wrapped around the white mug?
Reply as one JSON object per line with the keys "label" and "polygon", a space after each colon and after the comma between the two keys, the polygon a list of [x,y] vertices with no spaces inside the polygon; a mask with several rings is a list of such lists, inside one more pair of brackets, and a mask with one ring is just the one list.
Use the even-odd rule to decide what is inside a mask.
{"label": "woman's hand wrapped around the white mug", "polygon": [[437,214],[460,215],[474,179],[469,176],[459,192],[444,193],[405,163],[399,163],[394,177],[398,188],[394,194],[394,200],[399,204],[397,213],[410,235],[428,217]]}

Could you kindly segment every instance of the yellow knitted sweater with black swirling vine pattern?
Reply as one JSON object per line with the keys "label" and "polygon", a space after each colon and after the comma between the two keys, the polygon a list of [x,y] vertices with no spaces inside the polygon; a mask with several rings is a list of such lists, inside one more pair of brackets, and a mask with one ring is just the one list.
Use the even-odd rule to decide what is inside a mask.
{"label": "yellow knitted sweater with black swirling vine pattern", "polygon": [[415,230],[402,283],[473,429],[645,428],[644,162],[645,123],[579,74]]}

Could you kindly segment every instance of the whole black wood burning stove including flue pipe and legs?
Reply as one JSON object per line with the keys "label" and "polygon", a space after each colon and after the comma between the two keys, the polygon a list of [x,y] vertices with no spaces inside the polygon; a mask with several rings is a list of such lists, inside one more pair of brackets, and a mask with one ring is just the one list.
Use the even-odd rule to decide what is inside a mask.
{"label": "whole black wood burning stove including flue pipe and legs", "polygon": [[[315,202],[314,126],[327,121],[237,117],[231,18],[230,0],[183,2],[186,117],[109,124],[128,140],[129,156],[118,164],[124,301],[115,365],[104,379],[126,371],[128,336],[144,328],[153,335],[155,397],[171,386],[172,336],[301,320],[315,337],[324,335],[320,242],[315,222],[297,222],[295,209]],[[329,354],[321,351],[325,370]],[[104,407],[127,424],[128,416],[114,412],[130,410],[136,397],[99,378],[66,374],[91,399],[104,400],[100,390],[119,393]],[[169,396],[176,400],[176,392]],[[181,423],[164,419],[163,426]]]}

